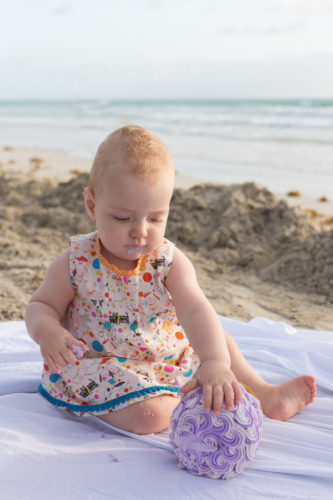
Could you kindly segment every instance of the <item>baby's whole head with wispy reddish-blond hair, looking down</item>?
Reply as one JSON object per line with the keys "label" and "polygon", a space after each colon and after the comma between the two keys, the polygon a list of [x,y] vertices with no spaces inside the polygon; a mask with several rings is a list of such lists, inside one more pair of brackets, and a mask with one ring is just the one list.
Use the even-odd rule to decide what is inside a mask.
{"label": "baby's whole head with wispy reddish-blond hair, looking down", "polygon": [[102,142],[85,204],[109,262],[131,269],[161,244],[174,178],[170,152],[149,130],[122,127]]}

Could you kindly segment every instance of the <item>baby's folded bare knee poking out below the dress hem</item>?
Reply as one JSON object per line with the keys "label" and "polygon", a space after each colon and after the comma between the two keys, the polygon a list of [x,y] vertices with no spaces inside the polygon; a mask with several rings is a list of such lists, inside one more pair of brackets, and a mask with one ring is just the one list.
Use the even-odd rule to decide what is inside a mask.
{"label": "baby's folded bare knee poking out below the dress hem", "polygon": [[133,403],[112,413],[99,415],[99,418],[135,434],[161,432],[169,427],[172,412],[179,401],[178,397],[164,394]]}

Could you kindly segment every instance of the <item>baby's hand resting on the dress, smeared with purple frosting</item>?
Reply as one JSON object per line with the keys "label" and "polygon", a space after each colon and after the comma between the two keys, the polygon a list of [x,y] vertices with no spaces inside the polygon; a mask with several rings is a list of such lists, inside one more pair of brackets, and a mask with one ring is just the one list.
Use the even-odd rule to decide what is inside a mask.
{"label": "baby's hand resting on the dress, smeared with purple frosting", "polygon": [[87,351],[87,346],[65,328],[45,333],[39,342],[41,354],[52,372],[59,372],[66,365],[74,365]]}

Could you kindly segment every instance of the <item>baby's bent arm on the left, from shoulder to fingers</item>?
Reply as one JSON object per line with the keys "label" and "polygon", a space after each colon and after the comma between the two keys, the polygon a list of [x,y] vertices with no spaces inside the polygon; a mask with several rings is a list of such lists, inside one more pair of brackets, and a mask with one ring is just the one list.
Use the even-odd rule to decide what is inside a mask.
{"label": "baby's bent arm on the left, from shoulder to fingers", "polygon": [[73,297],[69,250],[66,250],[48,268],[45,280],[30,299],[25,316],[28,332],[39,344],[42,356],[53,372],[76,362],[73,345],[86,349],[83,342],[76,340],[61,325]]}

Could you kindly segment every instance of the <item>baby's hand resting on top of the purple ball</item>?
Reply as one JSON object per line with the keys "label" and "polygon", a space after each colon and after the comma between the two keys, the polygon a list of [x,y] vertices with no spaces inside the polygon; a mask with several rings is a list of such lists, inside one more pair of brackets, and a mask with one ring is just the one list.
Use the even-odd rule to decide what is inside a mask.
{"label": "baby's hand resting on top of the purple ball", "polygon": [[230,367],[218,360],[204,361],[194,377],[180,390],[184,393],[201,385],[205,410],[214,409],[219,415],[223,403],[228,411],[233,410],[242,397],[235,375]]}

